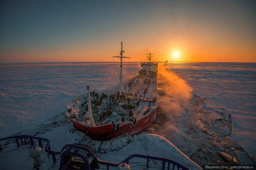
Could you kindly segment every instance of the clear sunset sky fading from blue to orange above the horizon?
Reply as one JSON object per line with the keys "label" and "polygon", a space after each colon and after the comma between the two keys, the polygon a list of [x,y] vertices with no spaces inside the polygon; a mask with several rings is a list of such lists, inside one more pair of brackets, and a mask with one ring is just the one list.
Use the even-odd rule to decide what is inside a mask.
{"label": "clear sunset sky fading from blue to orange above the horizon", "polygon": [[131,61],[256,62],[256,1],[0,1],[0,63],[113,61],[121,41]]}

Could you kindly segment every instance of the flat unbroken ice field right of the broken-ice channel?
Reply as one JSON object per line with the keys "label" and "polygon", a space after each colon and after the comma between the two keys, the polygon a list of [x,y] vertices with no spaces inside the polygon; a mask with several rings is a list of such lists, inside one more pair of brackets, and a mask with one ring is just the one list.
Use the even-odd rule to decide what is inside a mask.
{"label": "flat unbroken ice field right of the broken-ice channel", "polygon": [[169,63],[168,71],[186,80],[207,107],[231,114],[235,138],[256,155],[256,63]]}

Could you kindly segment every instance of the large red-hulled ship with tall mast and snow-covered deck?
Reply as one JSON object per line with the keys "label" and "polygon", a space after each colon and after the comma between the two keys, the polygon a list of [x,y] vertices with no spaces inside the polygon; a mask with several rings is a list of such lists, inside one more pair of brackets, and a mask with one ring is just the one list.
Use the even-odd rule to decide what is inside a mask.
{"label": "large red-hulled ship with tall mast and snow-covered deck", "polygon": [[108,140],[120,135],[135,135],[155,119],[158,63],[141,62],[141,70],[127,83],[122,80],[123,45],[121,43],[118,91],[108,94],[90,91],[67,104],[67,117],[79,130],[94,140]]}

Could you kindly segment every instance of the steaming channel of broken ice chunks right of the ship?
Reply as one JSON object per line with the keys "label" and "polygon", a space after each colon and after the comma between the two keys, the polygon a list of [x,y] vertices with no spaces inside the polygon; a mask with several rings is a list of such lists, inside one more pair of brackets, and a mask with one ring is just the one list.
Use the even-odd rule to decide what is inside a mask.
{"label": "steaming channel of broken ice chunks right of the ship", "polygon": [[237,161],[234,159],[237,154],[253,164],[243,148],[229,136],[232,133],[230,113],[208,107],[205,98],[195,95],[185,80],[166,70],[164,65],[159,67],[158,96],[156,120],[145,132],[162,135],[200,165],[231,163]]}

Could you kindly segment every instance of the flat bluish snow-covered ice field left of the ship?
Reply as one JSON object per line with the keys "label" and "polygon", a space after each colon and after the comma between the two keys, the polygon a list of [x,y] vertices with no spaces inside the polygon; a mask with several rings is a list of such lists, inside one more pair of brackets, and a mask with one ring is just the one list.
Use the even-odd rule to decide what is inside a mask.
{"label": "flat bluish snow-covered ice field left of the ship", "polygon": [[[124,80],[139,63],[124,63]],[[23,63],[0,65],[0,137],[26,130],[66,110],[91,89],[111,89],[119,63]]]}

